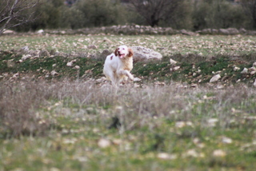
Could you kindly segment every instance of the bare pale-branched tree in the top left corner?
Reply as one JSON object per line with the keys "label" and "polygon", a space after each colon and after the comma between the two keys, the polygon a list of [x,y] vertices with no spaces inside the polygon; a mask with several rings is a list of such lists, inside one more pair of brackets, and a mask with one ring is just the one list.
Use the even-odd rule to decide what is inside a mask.
{"label": "bare pale-branched tree in the top left corner", "polygon": [[34,9],[40,0],[2,0],[0,2],[0,35],[11,27],[34,21]]}

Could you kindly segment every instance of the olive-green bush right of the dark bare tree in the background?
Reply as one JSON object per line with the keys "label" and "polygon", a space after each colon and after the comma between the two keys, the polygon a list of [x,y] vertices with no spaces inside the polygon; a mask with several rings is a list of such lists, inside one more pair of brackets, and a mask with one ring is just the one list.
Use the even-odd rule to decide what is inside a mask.
{"label": "olive-green bush right of the dark bare tree in the background", "polygon": [[194,30],[205,28],[247,28],[248,18],[242,7],[226,0],[196,2],[193,12]]}

